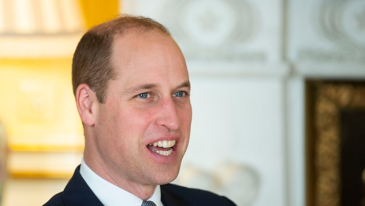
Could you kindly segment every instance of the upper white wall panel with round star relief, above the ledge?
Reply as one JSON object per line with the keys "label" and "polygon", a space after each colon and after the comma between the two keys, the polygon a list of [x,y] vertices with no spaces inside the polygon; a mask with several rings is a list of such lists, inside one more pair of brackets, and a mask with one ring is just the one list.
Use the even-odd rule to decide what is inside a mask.
{"label": "upper white wall panel with round star relief, above the ledge", "polygon": [[[233,64],[235,70],[251,72],[242,64],[274,63],[270,67],[254,66],[253,72],[286,70],[285,66],[277,65],[282,53],[283,12],[279,0],[158,0],[153,3],[137,0],[124,1],[123,10],[165,24],[188,63],[213,61],[232,65],[236,62],[239,65]],[[200,65],[192,68],[204,72]],[[224,67],[221,70],[225,71]]]}

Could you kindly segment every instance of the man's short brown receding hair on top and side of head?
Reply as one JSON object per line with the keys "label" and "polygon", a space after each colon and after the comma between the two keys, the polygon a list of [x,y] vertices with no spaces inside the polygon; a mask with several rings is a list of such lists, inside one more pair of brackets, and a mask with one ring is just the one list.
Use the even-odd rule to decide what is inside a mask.
{"label": "man's short brown receding hair on top and side of head", "polygon": [[155,20],[132,15],[122,15],[91,28],[82,36],[73,55],[73,94],[76,96],[78,85],[85,83],[96,92],[98,101],[104,103],[108,83],[116,76],[111,62],[114,39],[131,30],[145,33],[153,29],[171,35]]}

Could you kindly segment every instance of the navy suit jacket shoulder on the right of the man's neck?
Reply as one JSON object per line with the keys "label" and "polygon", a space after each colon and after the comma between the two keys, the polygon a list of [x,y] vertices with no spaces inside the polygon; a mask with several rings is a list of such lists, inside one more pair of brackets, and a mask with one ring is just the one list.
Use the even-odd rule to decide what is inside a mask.
{"label": "navy suit jacket shoulder on the right of the man's neck", "polygon": [[230,199],[205,190],[182,187],[176,184],[164,184],[161,185],[160,188],[161,195],[184,199],[185,204],[187,205],[235,206],[235,203],[233,203]]}

